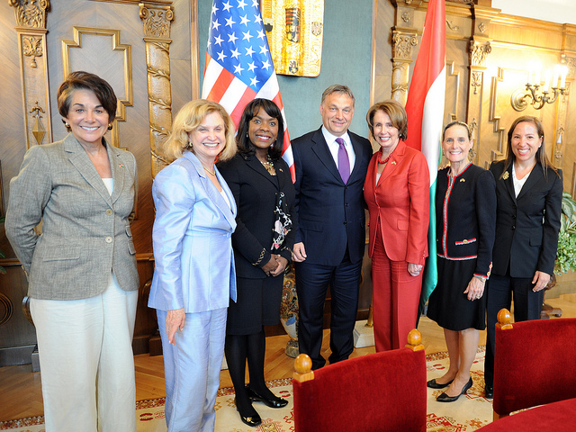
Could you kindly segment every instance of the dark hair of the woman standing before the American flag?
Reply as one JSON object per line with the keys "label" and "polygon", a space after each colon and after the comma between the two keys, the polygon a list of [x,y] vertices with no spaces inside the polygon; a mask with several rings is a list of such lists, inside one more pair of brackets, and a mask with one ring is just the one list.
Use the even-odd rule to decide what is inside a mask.
{"label": "dark hair of the woman standing before the American flag", "polygon": [[282,112],[278,105],[268,99],[254,99],[248,103],[242,112],[242,117],[238,124],[238,133],[236,134],[236,143],[238,144],[238,151],[240,153],[256,153],[256,146],[250,141],[248,137],[248,129],[250,121],[256,117],[260,108],[264,108],[266,114],[278,121],[278,136],[272,145],[268,148],[268,156],[272,160],[278,160],[282,156],[282,148],[284,145],[284,119]]}

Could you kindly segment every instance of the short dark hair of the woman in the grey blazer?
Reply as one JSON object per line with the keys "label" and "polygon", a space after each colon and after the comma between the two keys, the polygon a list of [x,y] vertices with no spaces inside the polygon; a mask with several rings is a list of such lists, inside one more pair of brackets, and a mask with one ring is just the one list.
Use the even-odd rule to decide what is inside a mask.
{"label": "short dark hair of the woman in the grey blazer", "polygon": [[[112,85],[108,84],[100,76],[78,70],[68,74],[58,88],[58,112],[62,117],[67,117],[72,103],[72,94],[76,90],[84,89],[94,92],[98,101],[102,103],[105,112],[108,112],[108,121],[112,123],[116,118],[116,106],[118,99]],[[69,128],[67,128],[69,130]]]}

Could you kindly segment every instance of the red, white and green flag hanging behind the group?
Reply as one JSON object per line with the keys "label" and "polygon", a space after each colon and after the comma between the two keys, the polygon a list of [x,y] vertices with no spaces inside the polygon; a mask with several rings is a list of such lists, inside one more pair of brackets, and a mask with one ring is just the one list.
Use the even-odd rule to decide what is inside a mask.
{"label": "red, white and green flag hanging behind the group", "polygon": [[446,9],[444,0],[429,0],[424,33],[408,92],[406,144],[424,153],[430,171],[428,259],[420,305],[428,301],[438,281],[436,251],[436,179],[446,93]]}

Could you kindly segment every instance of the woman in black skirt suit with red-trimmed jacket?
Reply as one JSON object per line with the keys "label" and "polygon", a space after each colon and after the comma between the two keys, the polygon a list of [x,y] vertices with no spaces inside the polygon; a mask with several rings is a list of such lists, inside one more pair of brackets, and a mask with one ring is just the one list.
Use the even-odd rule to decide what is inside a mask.
{"label": "woman in black skirt suit with red-trimmed jacket", "polygon": [[491,275],[496,192],[490,171],[468,160],[472,146],[466,123],[446,125],[442,150],[450,166],[437,176],[438,284],[428,302],[428,318],[444,328],[450,356],[446,374],[428,382],[433,389],[448,387],[440,402],[456,401],[472,386],[478,330],[486,327],[484,285]]}

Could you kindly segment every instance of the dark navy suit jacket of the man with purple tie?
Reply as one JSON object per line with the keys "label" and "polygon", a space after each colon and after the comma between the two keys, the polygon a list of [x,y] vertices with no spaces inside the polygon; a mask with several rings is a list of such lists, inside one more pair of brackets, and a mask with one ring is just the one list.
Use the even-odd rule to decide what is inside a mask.
{"label": "dark navy suit jacket of the man with purple tie", "polygon": [[344,184],[321,128],[293,139],[296,168],[295,242],[306,248],[306,262],[338,266],[346,248],[358,262],[365,250],[365,201],[363,187],[372,146],[368,139],[350,132],[356,154],[354,169]]}

